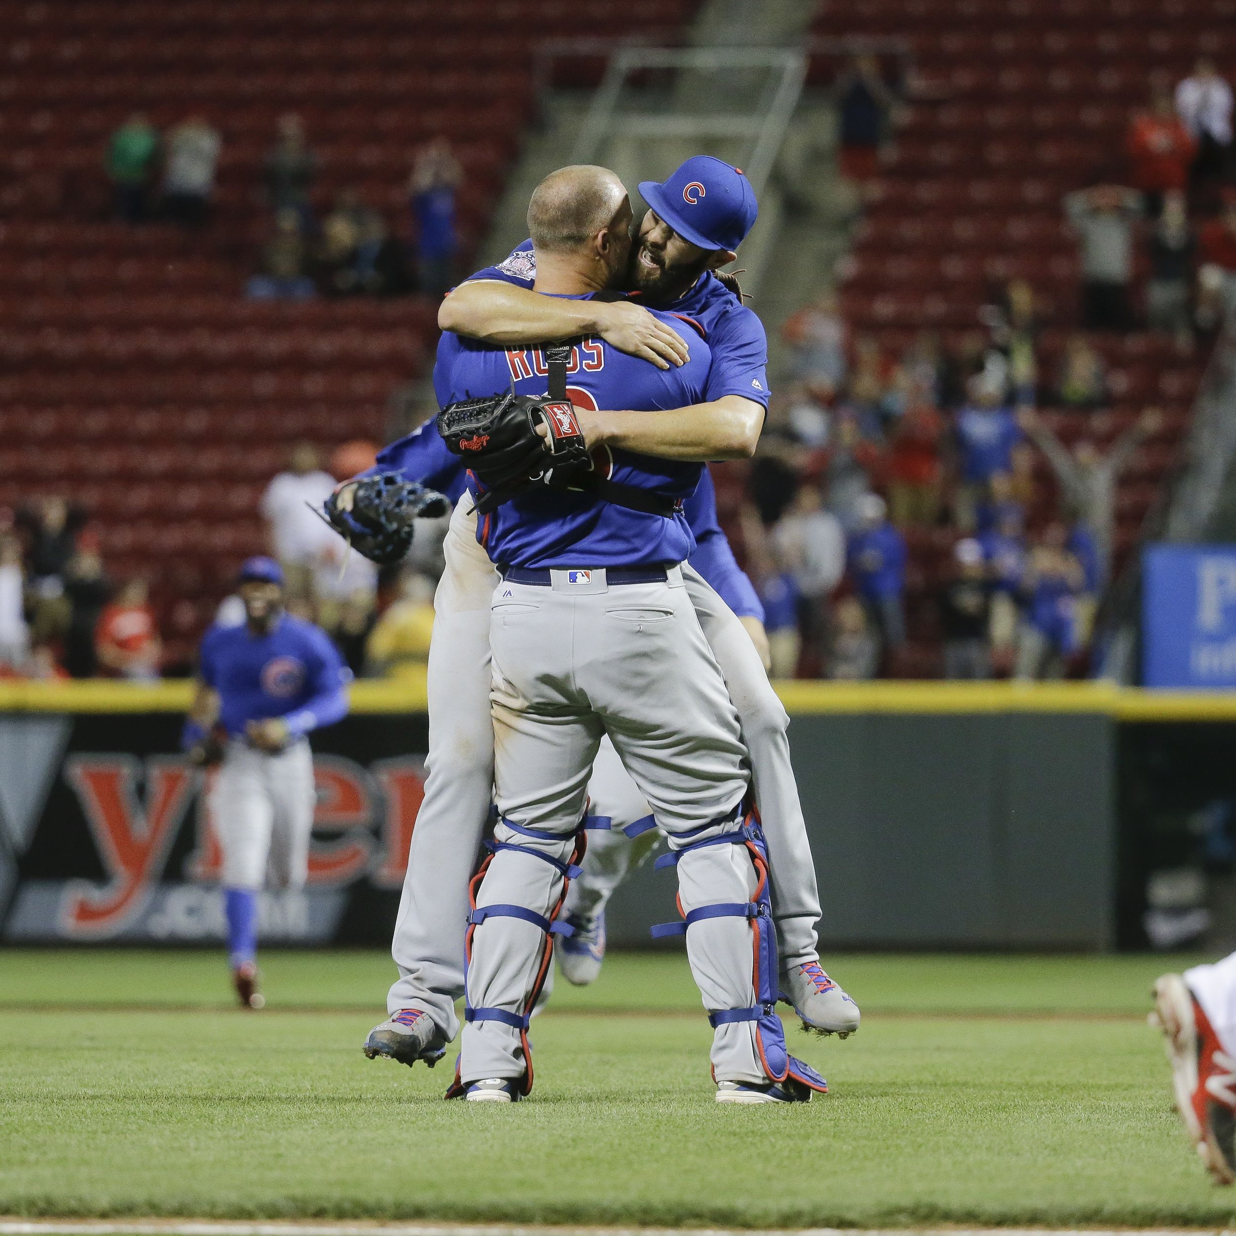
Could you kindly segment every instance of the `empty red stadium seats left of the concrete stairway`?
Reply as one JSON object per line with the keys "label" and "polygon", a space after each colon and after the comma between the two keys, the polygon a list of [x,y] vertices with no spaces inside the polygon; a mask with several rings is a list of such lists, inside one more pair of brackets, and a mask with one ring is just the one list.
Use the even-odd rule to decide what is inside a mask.
{"label": "empty red stadium seats left of the concrete stairway", "polygon": [[[314,209],[356,189],[409,231],[417,150],[464,168],[471,262],[534,114],[544,32],[675,41],[697,0],[57,0],[0,6],[0,508],[63,494],[110,574],[153,585],[183,662],[288,445],[381,440],[436,337],[425,298],[246,300],[268,227],[261,168],[286,111],[319,158]],[[555,62],[591,85],[603,57]],[[201,231],[110,220],[109,135],[200,115],[222,135]]]}

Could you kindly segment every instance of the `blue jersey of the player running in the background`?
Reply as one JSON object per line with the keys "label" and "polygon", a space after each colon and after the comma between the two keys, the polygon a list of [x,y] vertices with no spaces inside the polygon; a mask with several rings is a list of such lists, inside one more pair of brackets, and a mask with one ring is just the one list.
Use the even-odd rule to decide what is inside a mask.
{"label": "blue jersey of the player running in the background", "polygon": [[266,635],[247,624],[211,627],[199,672],[219,692],[219,719],[232,735],[251,721],[282,717],[299,737],[347,714],[351,671],[320,627],[292,614],[281,614]]}

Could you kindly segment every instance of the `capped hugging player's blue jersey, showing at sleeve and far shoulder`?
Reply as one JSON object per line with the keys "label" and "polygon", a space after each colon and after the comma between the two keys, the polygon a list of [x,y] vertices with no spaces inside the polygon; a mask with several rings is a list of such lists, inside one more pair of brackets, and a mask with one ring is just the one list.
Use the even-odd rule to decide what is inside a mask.
{"label": "capped hugging player's blue jersey, showing at sleeve and far shoulder", "polygon": [[[487,266],[471,276],[473,279],[498,279],[519,288],[531,288],[536,279],[536,258],[533,242],[525,240],[497,266]],[[768,339],[764,324],[711,271],[700,276],[695,287],[672,304],[658,307],[667,313],[684,314],[700,323],[712,350],[712,368],[705,386],[705,400],[727,394],[740,394],[769,405]],[[695,340],[688,337],[695,350]]]}

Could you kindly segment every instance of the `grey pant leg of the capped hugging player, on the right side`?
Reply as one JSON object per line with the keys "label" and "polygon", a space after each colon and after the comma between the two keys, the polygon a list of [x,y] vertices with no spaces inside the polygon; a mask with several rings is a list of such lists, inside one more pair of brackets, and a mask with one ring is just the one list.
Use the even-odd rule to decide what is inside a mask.
{"label": "grey pant leg of the capped hugging player, on the right side", "polygon": [[790,717],[772,690],[751,637],[729,606],[691,567],[682,569],[687,595],[726,677],[750,753],[751,784],[769,849],[772,918],[782,970],[818,959],[819,889],[790,760]]}

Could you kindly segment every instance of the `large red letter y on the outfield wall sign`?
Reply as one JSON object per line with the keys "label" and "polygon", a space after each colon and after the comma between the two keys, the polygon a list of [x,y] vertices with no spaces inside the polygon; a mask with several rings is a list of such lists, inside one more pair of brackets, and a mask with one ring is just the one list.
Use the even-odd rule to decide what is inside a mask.
{"label": "large red letter y on the outfield wall sign", "polygon": [[70,755],[73,786],[108,873],[103,886],[74,880],[61,902],[67,936],[112,936],[146,902],[192,797],[194,771],[184,760],[151,756],[138,800],[142,764],[131,755]]}

